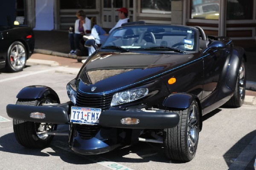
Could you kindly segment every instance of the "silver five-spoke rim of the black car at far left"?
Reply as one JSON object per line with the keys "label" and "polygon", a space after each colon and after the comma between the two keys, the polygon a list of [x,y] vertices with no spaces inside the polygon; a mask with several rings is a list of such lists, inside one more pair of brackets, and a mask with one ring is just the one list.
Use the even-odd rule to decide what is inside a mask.
{"label": "silver five-spoke rim of the black car at far left", "polygon": [[10,63],[15,69],[23,68],[26,63],[26,50],[22,45],[16,44],[12,47],[10,53]]}

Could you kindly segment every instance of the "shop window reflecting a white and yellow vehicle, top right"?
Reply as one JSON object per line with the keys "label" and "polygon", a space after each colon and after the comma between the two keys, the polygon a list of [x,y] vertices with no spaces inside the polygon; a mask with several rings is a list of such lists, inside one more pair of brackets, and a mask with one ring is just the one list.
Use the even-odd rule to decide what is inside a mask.
{"label": "shop window reflecting a white and yellow vehicle, top right", "polygon": [[192,0],[191,18],[219,19],[220,0]]}

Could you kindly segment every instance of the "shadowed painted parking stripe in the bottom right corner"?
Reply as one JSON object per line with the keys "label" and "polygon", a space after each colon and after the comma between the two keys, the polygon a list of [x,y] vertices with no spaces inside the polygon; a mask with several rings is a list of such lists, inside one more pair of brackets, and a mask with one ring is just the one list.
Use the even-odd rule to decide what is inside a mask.
{"label": "shadowed painted parking stripe in the bottom right corner", "polygon": [[240,153],[231,165],[229,170],[244,170],[249,162],[256,155],[256,136],[250,142],[250,144],[245,147],[245,149]]}

